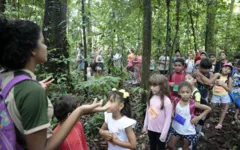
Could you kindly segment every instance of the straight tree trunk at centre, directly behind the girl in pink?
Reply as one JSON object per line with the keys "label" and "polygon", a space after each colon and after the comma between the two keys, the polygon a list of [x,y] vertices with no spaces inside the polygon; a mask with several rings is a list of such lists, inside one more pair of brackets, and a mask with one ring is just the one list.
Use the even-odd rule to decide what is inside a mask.
{"label": "straight tree trunk at centre, directly behind the girl in pink", "polygon": [[148,89],[149,65],[152,42],[152,7],[151,0],[143,0],[143,55],[142,55],[142,87]]}

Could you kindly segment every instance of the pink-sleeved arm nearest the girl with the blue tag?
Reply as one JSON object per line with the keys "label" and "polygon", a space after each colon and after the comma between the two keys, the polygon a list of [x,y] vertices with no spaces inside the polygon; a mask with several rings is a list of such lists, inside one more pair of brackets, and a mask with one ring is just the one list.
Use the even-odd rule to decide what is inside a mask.
{"label": "pink-sleeved arm nearest the girl with the blue tag", "polygon": [[169,104],[166,107],[164,107],[164,111],[165,111],[165,114],[166,114],[166,118],[165,118],[165,121],[164,121],[161,136],[159,138],[160,141],[162,141],[162,142],[166,141],[166,138],[167,138],[167,135],[168,135],[168,130],[169,130],[170,125],[171,125],[172,113],[173,113],[172,112],[173,111],[172,104]]}

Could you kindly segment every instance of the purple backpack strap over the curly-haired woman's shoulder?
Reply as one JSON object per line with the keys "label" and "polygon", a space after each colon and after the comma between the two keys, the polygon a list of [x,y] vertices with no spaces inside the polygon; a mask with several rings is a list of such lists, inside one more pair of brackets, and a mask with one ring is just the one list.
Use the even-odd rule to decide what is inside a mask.
{"label": "purple backpack strap over the curly-haired woman's shoulder", "polygon": [[2,99],[5,99],[7,97],[9,91],[14,87],[14,85],[16,85],[22,81],[25,81],[25,80],[32,80],[32,79],[26,75],[19,75],[19,76],[14,77],[10,82],[8,82],[8,84],[2,90],[2,92],[1,92]]}

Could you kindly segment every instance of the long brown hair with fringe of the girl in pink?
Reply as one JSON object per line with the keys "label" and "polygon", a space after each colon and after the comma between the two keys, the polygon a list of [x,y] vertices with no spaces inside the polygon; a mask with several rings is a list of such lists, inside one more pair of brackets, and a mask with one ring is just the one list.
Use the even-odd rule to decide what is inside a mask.
{"label": "long brown hair with fringe of the girl in pink", "polygon": [[[170,89],[169,89],[169,85],[168,85],[168,80],[164,75],[160,75],[160,74],[155,74],[152,75],[149,79],[149,85],[155,85],[155,86],[159,86],[160,87],[160,99],[162,102],[162,106],[161,106],[161,110],[164,108],[164,96],[167,96],[170,98]],[[153,96],[153,93],[151,91],[151,89],[149,88],[149,94],[148,94],[148,105],[150,105],[150,99]]]}

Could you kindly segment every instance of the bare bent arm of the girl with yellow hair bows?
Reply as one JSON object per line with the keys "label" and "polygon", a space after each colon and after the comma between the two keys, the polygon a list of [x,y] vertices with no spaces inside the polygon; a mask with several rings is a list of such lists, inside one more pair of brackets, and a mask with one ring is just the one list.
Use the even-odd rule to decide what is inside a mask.
{"label": "bare bent arm of the girl with yellow hair bows", "polygon": [[133,132],[132,126],[127,127],[125,131],[127,133],[128,142],[122,142],[118,140],[116,136],[113,137],[111,141],[113,142],[113,144],[123,148],[136,149],[136,145],[137,145],[136,136],[135,136],[135,133]]}

